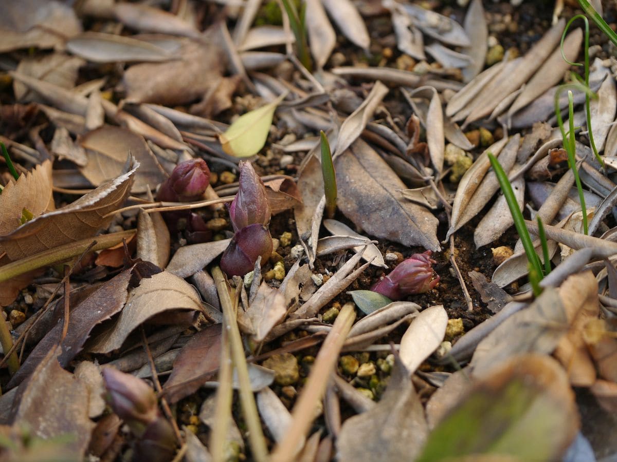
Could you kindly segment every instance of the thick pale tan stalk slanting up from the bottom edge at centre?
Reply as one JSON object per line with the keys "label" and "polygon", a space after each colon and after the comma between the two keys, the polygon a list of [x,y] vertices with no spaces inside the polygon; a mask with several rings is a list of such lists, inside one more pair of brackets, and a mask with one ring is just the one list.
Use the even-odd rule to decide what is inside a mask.
{"label": "thick pale tan stalk slanting up from the bottom edge at centre", "polygon": [[309,378],[300,392],[300,396],[292,411],[292,423],[283,440],[272,453],[270,462],[286,462],[294,460],[296,448],[303,437],[309,432],[315,419],[315,408],[323,397],[328,385],[328,379],[336,365],[339,352],[347,333],[355,320],[354,304],[346,303],[334,321],[321,347],[315,363],[310,371]]}

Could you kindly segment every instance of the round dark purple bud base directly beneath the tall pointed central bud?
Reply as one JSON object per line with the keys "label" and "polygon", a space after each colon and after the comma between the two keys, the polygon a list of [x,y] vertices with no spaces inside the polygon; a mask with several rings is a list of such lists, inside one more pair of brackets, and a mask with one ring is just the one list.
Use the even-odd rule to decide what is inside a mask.
{"label": "round dark purple bud base directly beneath the tall pointed central bud", "polygon": [[252,271],[257,257],[262,264],[272,253],[272,237],[267,227],[260,223],[239,230],[221,257],[221,269],[228,276],[244,276]]}

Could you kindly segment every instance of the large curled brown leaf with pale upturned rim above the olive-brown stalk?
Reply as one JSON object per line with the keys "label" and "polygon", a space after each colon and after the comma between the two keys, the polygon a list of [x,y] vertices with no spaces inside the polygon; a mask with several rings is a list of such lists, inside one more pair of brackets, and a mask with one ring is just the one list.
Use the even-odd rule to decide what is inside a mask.
{"label": "large curled brown leaf with pale upturned rim above the olive-brown stalk", "polygon": [[110,180],[78,200],[43,214],[13,232],[0,235],[0,245],[12,261],[94,235],[106,227],[130,192],[139,167],[131,158],[130,171]]}

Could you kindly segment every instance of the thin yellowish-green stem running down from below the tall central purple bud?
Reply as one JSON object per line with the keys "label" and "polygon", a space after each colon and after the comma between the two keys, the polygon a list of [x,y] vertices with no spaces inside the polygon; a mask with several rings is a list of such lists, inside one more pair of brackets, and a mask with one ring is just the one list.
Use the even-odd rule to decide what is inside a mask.
{"label": "thin yellowish-green stem running down from below the tall central purple bud", "polygon": [[238,330],[238,322],[236,322],[236,313],[234,312],[233,303],[231,302],[227,282],[225,281],[223,272],[218,266],[212,269],[212,277],[217,285],[218,298],[223,309],[223,320],[228,323],[226,329],[230,336],[231,359],[238,373],[240,402],[242,403],[244,419],[249,429],[251,450],[257,462],[265,462],[268,459],[268,449],[263,437],[262,423],[257,413],[255,397],[251,389],[249,368],[247,367],[246,357],[244,356],[244,346],[242,344],[240,331]]}

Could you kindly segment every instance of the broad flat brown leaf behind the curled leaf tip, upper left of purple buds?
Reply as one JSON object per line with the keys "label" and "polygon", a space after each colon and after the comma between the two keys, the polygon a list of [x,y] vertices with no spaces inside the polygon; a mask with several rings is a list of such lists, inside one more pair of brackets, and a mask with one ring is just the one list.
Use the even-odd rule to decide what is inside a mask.
{"label": "broad flat brown leaf behind the curled leaf tip, upper left of purple buds", "polygon": [[97,128],[86,133],[80,144],[88,158],[86,166],[80,168],[81,174],[95,186],[118,175],[127,152],[140,164],[131,192],[143,193],[165,180],[165,172],[146,140],[125,128],[111,125]]}

